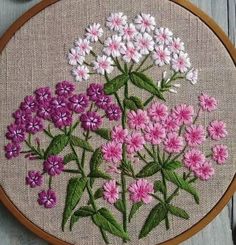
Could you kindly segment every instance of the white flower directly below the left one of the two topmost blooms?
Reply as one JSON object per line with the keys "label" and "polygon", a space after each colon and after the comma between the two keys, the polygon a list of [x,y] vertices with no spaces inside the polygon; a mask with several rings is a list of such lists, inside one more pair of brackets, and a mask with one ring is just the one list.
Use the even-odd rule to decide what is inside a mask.
{"label": "white flower directly below the left one of the two topmost blooms", "polygon": [[107,56],[119,57],[120,49],[123,47],[122,38],[114,35],[112,37],[108,37],[104,42],[103,52]]}

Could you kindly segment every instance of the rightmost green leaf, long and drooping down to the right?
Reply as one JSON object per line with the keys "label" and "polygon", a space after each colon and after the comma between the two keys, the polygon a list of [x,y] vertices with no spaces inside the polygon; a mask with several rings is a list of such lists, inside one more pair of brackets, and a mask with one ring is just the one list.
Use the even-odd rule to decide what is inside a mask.
{"label": "rightmost green leaf, long and drooping down to the right", "polygon": [[199,204],[199,196],[197,191],[191,184],[188,183],[188,181],[184,180],[181,176],[176,174],[175,172],[172,172],[170,170],[164,170],[163,169],[164,176],[167,180],[177,185],[180,189],[183,189],[187,191],[188,193],[192,194],[194,197],[194,200],[197,204]]}

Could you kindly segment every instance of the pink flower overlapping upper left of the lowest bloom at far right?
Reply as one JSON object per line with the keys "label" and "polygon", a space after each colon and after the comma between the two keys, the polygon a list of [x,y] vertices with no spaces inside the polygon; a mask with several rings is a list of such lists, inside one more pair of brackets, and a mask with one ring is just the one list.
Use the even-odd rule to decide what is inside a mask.
{"label": "pink flower overlapping upper left of the lowest bloom at far right", "polygon": [[205,160],[206,158],[200,150],[191,149],[184,154],[183,162],[186,168],[189,168],[193,171],[200,167],[205,162]]}

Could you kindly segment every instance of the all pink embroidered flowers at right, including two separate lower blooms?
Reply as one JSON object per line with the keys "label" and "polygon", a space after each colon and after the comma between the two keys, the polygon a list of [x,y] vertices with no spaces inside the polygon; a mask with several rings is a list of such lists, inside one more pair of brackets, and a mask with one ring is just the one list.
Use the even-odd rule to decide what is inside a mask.
{"label": "all pink embroidered flowers at right, including two separate lower blooms", "polygon": [[[111,141],[102,146],[107,171],[119,173],[122,144],[126,145],[127,158],[134,165],[140,161],[145,163],[145,154],[152,152],[151,147],[157,146],[161,156],[167,154],[170,161],[180,160],[196,178],[210,179],[214,175],[212,161],[224,164],[229,156],[228,149],[225,145],[215,144],[204,154],[200,147],[207,138],[219,141],[228,133],[223,121],[214,120],[205,128],[198,123],[198,118],[203,112],[216,108],[217,102],[213,97],[201,94],[196,112],[191,105],[180,104],[169,109],[159,102],[153,102],[146,110],[128,112],[128,128],[115,126]],[[104,199],[109,203],[119,199],[118,186],[114,183],[108,181],[104,185]],[[128,187],[133,203],[149,203],[153,191],[153,184],[146,179],[138,179]]]}

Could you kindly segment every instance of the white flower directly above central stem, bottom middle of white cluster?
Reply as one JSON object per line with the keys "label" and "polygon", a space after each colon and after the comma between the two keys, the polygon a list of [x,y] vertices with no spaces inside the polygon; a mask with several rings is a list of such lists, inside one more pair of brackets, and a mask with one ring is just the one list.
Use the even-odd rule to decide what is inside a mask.
{"label": "white flower directly above central stem, bottom middle of white cluster", "polygon": [[138,63],[142,57],[132,42],[127,42],[127,44],[121,48],[120,52],[123,54],[123,60],[126,63],[129,63],[131,60]]}

